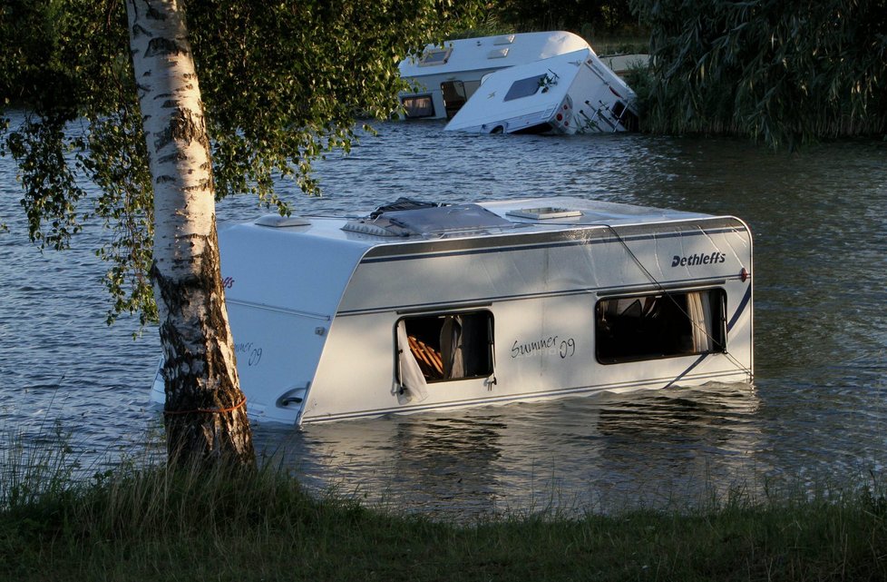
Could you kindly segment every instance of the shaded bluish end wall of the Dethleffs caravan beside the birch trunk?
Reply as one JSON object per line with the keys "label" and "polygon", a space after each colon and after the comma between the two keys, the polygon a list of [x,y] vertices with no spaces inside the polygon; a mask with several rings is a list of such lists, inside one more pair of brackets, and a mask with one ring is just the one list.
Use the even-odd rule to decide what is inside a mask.
{"label": "shaded bluish end wall of the Dethleffs caravan beside the birch trunk", "polygon": [[249,414],[298,422],[330,322],[367,245],[312,226],[219,232],[222,277]]}

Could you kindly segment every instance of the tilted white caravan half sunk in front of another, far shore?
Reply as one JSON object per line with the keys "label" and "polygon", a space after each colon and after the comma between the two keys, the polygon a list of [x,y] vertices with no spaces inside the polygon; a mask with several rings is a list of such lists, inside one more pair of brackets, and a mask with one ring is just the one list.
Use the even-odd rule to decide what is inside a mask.
{"label": "tilted white caravan half sunk in front of another, far shore", "polygon": [[445,131],[613,133],[637,129],[636,95],[590,48],[497,71]]}

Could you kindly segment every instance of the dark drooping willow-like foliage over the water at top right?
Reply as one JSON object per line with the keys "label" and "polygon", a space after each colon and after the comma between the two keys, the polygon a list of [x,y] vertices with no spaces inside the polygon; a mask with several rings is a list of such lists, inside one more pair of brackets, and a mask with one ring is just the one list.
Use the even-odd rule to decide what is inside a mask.
{"label": "dark drooping willow-like foliage over the water at top right", "polygon": [[887,132],[887,2],[632,0],[651,30],[653,133],[775,146]]}

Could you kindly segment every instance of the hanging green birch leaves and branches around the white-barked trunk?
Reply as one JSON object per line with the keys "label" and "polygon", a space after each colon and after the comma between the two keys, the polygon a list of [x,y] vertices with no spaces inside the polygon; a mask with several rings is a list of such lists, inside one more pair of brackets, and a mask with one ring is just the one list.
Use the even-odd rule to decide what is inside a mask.
{"label": "hanging green birch leaves and branches around the white-barked trunk", "polygon": [[[347,150],[356,117],[395,111],[400,59],[479,8],[475,0],[191,0],[217,195],[255,193],[288,212],[274,179],[317,192],[311,161]],[[102,221],[112,232],[98,251],[110,263],[109,319],[137,311],[152,320],[151,180],[123,3],[6,0],[0,39],[0,107],[24,108],[20,125],[0,124],[0,147],[19,165],[32,240],[63,249],[84,222]],[[100,193],[90,196],[85,182]]]}

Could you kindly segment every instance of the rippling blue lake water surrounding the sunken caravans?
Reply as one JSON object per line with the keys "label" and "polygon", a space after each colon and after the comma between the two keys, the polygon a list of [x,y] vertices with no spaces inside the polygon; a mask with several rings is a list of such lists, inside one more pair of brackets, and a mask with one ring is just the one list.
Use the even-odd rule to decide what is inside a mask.
{"label": "rippling blue lake water surrounding the sunken caravans", "polygon": [[[254,424],[257,446],[307,487],[464,518],[673,503],[733,488],[884,477],[887,461],[887,143],[771,153],[724,139],[443,133],[384,123],[317,164],[326,195],[280,192],[297,212],[563,194],[734,214],[755,234],[755,383],[513,404],[294,429]],[[0,158],[0,447],[70,433],[100,470],[161,449],[148,389],[160,349],[136,321],[104,324],[102,236],[70,251],[27,242]],[[262,213],[219,204],[219,223]],[[346,362],[343,365],[347,365]],[[0,451],[2,453],[2,451]]]}

